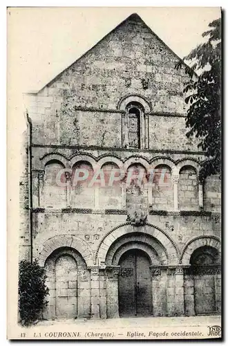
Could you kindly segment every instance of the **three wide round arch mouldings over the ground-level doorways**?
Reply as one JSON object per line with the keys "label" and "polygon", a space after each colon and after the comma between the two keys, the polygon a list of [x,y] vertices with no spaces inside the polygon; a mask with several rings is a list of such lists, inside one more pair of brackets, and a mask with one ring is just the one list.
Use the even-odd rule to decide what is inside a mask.
{"label": "three wide round arch mouldings over the ground-level doorways", "polygon": [[38,251],[38,259],[41,266],[44,266],[47,258],[56,251],[57,248],[68,247],[75,248],[86,262],[87,266],[111,265],[114,259],[113,255],[117,249],[126,244],[141,244],[150,248],[157,253],[162,265],[176,266],[178,264],[189,265],[192,253],[202,246],[211,246],[216,248],[220,253],[220,238],[214,235],[200,235],[189,239],[187,244],[179,250],[177,244],[172,237],[162,230],[151,224],[146,224],[135,232],[135,228],[131,224],[126,223],[113,228],[109,233],[104,235],[101,242],[97,246],[94,253],[83,239],[74,235],[56,235],[50,237],[42,244]]}

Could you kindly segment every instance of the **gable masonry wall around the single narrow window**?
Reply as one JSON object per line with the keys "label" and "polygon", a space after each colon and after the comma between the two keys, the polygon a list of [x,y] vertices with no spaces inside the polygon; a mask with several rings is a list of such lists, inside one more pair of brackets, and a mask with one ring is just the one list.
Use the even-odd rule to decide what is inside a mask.
{"label": "gable masonry wall around the single narrow window", "polygon": [[[178,57],[141,19],[124,21],[39,93],[30,95],[33,143],[121,147],[122,114],[113,110],[117,112],[126,95],[140,95],[149,103],[150,113],[160,115],[149,116],[149,147],[178,149],[181,142],[182,149],[193,149],[185,136],[184,118],[171,116],[186,113],[182,90],[187,75],[184,68],[175,69],[177,62]],[[91,128],[93,136],[88,135]]]}

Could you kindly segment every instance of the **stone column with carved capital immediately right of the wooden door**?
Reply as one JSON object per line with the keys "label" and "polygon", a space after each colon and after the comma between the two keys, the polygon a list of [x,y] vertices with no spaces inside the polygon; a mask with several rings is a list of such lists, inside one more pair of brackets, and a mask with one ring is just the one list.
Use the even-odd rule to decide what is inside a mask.
{"label": "stone column with carved capital immediately right of the wooden door", "polygon": [[167,270],[151,266],[151,298],[153,316],[166,316],[167,313]]}

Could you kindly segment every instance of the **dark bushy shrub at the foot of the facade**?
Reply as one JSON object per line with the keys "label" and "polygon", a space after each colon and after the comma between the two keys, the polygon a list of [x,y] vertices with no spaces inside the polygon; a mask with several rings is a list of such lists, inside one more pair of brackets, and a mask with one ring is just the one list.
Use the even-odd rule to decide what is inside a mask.
{"label": "dark bushy shrub at the foot of the facade", "polygon": [[48,287],[45,284],[46,271],[39,266],[37,260],[30,263],[19,263],[19,313],[21,324],[28,326],[41,316],[41,312],[48,302]]}

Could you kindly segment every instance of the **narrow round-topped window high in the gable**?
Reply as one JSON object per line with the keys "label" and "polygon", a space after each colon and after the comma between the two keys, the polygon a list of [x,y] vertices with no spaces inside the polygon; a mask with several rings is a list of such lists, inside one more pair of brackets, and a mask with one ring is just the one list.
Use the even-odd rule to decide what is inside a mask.
{"label": "narrow round-topped window high in the gable", "polygon": [[137,102],[131,102],[126,107],[127,128],[129,134],[129,148],[142,147],[142,114],[143,109]]}

